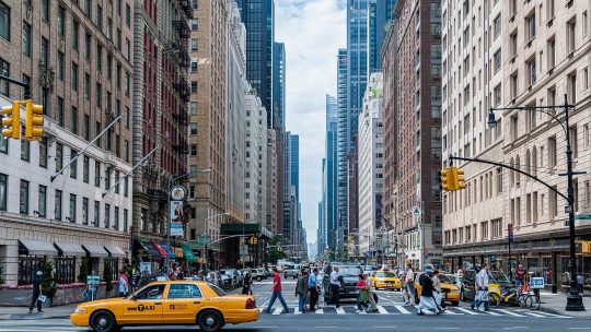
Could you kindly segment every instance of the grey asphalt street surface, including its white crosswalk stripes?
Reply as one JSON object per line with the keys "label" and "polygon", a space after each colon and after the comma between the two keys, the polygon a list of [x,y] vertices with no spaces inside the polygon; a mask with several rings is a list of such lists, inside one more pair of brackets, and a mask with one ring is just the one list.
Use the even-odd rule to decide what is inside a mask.
{"label": "grey asphalt street surface, including its white crosswalk stripes", "polygon": [[[276,301],[271,313],[263,312],[254,323],[227,325],[225,331],[590,331],[589,318],[572,318],[543,311],[500,307],[490,313],[470,310],[470,305],[449,307],[449,312],[440,316],[417,316],[414,306],[404,306],[398,292],[379,290],[380,312],[359,315],[355,312],[354,301],[344,301],[343,310],[323,306],[315,313],[296,312],[298,300],[294,297],[294,281],[283,282],[283,296],[290,307],[289,313],[279,313],[280,304]],[[255,282],[253,292],[257,306],[265,309],[270,298],[271,282]],[[239,289],[234,290],[239,292]],[[195,327],[153,327],[125,328],[124,331],[189,331]],[[20,331],[88,331],[72,327],[67,319],[46,319],[27,321],[0,321],[0,332]]]}

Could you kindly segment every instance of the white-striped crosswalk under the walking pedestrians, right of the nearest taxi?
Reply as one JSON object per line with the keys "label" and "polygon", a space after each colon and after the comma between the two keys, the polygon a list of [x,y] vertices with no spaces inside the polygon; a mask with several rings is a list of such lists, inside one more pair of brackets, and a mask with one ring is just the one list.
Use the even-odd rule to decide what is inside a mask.
{"label": "white-striped crosswalk under the walking pedestrians, right of the nearest taxi", "polygon": [[[289,306],[289,305],[288,305]],[[262,307],[265,309],[265,307]],[[351,305],[345,305],[340,306],[339,308],[335,308],[334,306],[327,306],[322,307],[320,309],[316,309],[314,313],[310,313],[309,311],[301,312],[298,309],[298,306],[291,305],[289,306],[289,312],[282,313],[283,308],[276,307],[273,308],[270,311],[270,315],[416,315],[416,306],[402,306],[402,305],[378,305],[378,311],[376,312],[357,312],[357,306]],[[425,313],[429,315],[429,311],[425,311]],[[434,315],[434,313],[433,313]],[[556,315],[545,311],[513,311],[511,309],[490,309],[489,311],[483,311],[483,310],[471,310],[462,307],[448,307],[445,308],[445,312],[443,315],[451,315],[451,316],[467,316],[467,317],[477,317],[477,316],[493,316],[493,317],[535,317],[535,318],[572,318],[569,316],[563,316],[563,315]]]}

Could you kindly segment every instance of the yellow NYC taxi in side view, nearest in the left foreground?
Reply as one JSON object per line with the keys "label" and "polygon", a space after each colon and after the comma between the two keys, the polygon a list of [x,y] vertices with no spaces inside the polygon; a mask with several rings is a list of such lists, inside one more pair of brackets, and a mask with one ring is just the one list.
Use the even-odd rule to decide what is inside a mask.
{"label": "yellow NYC taxi in side view, nearest in the left foreground", "polygon": [[70,321],[101,332],[158,324],[197,324],[201,331],[213,332],[227,323],[256,321],[259,315],[253,296],[225,294],[206,282],[163,281],[128,297],[81,304]]}

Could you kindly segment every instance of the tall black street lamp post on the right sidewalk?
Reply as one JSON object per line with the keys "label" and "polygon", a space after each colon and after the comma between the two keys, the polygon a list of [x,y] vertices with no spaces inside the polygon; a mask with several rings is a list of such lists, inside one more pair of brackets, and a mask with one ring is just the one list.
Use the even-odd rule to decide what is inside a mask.
{"label": "tall black street lamp post on the right sidewalk", "polygon": [[[560,119],[549,109],[554,110],[555,108],[564,107],[565,118],[564,123]],[[570,259],[569,259],[569,271],[570,271],[570,289],[567,297],[567,311],[584,311],[584,305],[582,303],[582,297],[579,295],[577,288],[577,252],[575,245],[575,186],[573,186],[573,175],[579,175],[583,173],[572,171],[572,151],[570,150],[570,132],[569,132],[569,110],[573,108],[573,105],[568,105],[568,98],[565,94],[565,104],[564,105],[552,105],[552,106],[525,106],[525,107],[506,107],[506,108],[490,108],[488,112],[488,124],[496,126],[497,121],[495,120],[494,110],[534,110],[541,111],[554,120],[556,120],[565,130],[566,134],[566,157],[567,157],[567,173],[559,174],[560,176],[567,176],[568,193],[567,193],[567,203],[566,211],[568,212],[568,228],[569,228],[569,242],[570,242]]]}

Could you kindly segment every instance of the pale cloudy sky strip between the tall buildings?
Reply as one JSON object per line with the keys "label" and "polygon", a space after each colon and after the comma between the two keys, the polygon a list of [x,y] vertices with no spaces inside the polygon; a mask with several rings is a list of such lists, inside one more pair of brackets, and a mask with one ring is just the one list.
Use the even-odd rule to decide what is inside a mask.
{"label": "pale cloudy sky strip between the tall buildings", "polygon": [[300,201],[316,240],[325,146],[325,95],[335,96],[338,48],[347,45],[346,0],[275,0],[275,39],[286,44],[286,126],[300,135]]}

